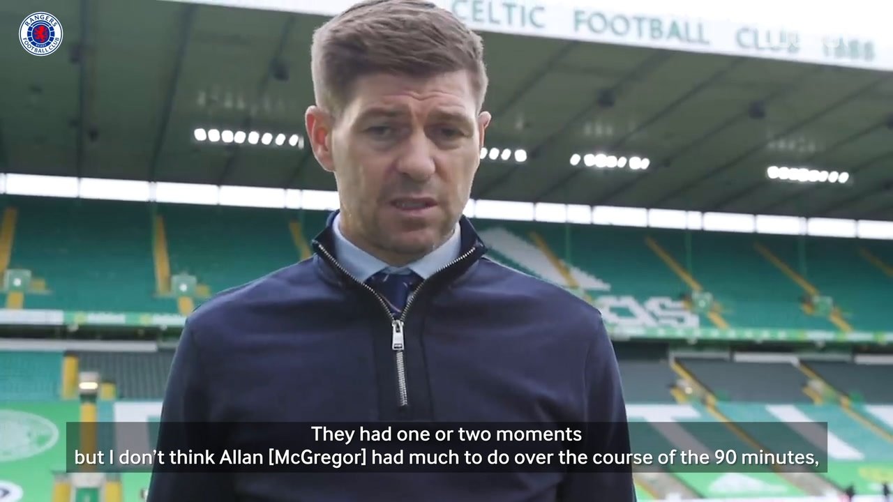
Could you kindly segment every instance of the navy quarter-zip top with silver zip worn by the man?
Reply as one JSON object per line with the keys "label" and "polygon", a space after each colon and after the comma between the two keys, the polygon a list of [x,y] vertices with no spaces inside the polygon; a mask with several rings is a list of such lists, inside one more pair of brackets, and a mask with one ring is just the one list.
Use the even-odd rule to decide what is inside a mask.
{"label": "navy quarter-zip top with silver zip worn by the man", "polygon": [[[267,444],[264,429],[249,423],[574,422],[611,424],[599,429],[594,449],[630,451],[617,362],[597,309],[490,261],[472,223],[460,223],[462,255],[416,289],[401,320],[338,265],[329,227],[313,240],[311,258],[201,305],[174,356],[159,444],[196,422],[228,423],[232,437]],[[153,474],[149,502],[205,500],[630,502],[635,495],[629,472]]]}

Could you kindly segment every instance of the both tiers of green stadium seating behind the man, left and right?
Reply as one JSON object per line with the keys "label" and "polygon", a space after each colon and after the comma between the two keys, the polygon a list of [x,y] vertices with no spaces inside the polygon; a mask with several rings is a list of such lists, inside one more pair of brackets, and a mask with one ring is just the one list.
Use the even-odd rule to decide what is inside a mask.
{"label": "both tiers of green stadium seating behind the man, left and right", "polygon": [[[9,269],[32,272],[21,305],[25,311],[175,314],[182,295],[171,290],[171,280],[186,273],[197,281],[189,298],[195,304],[189,303],[185,311],[179,306],[181,314],[188,314],[223,289],[309,255],[309,243],[329,215],[28,197],[6,197],[5,202],[13,212],[6,213],[4,222],[15,219],[9,236]],[[588,298],[614,326],[841,330],[830,316],[810,314],[801,305],[801,298],[809,294],[804,287],[808,283],[821,287],[822,294],[842,306],[841,319],[849,329],[889,329],[882,305],[873,301],[889,292],[889,280],[885,282],[888,278],[877,266],[860,255],[863,245],[852,241],[814,239],[827,242],[832,250],[816,249],[810,241],[806,252],[800,253],[796,238],[543,222],[474,223],[491,247],[492,259]],[[872,255],[885,260],[888,251],[871,247]],[[851,259],[833,259],[844,255]],[[740,273],[742,268],[747,274]],[[854,268],[859,269],[858,282],[847,282],[846,274]],[[713,308],[695,309],[691,294],[698,290],[714,295]],[[617,341],[615,350],[630,409],[646,410],[630,417],[637,422],[633,443],[639,450],[732,449],[742,454],[788,445],[814,451],[815,423],[827,423],[833,438],[829,442],[833,464],[818,478],[770,468],[753,473],[668,468],[637,473],[642,500],[667,494],[821,495],[850,482],[876,491],[877,482],[872,480],[876,473],[887,472],[882,466],[893,461],[893,423],[883,418],[893,416],[884,407],[893,403],[889,365],[731,362],[689,353],[673,356],[672,345],[636,341]],[[78,412],[74,402],[60,399],[61,352],[0,351],[4,409],[27,409],[52,418],[57,426],[63,425],[54,417],[71,420],[71,414],[78,413],[81,420],[84,413],[93,413],[94,420],[98,416],[157,421],[170,350],[79,349],[70,354],[78,358],[79,371],[96,371],[104,382],[114,384],[113,396],[104,397],[98,414]],[[816,381],[823,382],[830,394],[812,392],[810,386]],[[847,397],[847,402],[834,398],[834,392]],[[882,409],[872,411],[868,406]],[[881,465],[877,468],[881,471],[871,470],[873,465]],[[31,493],[42,493],[44,485],[52,483],[46,476],[32,476],[31,469],[17,464],[12,472]],[[124,502],[138,502],[147,476],[129,473],[121,480]]]}

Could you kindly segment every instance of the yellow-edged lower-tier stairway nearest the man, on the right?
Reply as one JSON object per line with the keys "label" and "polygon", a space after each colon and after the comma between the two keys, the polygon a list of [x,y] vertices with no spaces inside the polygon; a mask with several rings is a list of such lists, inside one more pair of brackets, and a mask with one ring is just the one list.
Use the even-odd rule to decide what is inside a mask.
{"label": "yellow-edged lower-tier stairway nearest the man, on the right", "polygon": [[[689,383],[697,389],[700,389],[700,391],[705,396],[705,411],[708,414],[714,416],[717,421],[724,423],[726,427],[728,427],[730,431],[733,432],[733,434],[726,434],[722,438],[704,438],[702,436],[701,439],[710,439],[706,441],[710,448],[714,450],[734,449],[739,453],[754,453],[758,452],[760,449],[771,451],[771,448],[764,448],[756,439],[748,434],[747,431],[744,431],[736,423],[733,423],[728,416],[722,414],[722,412],[717,408],[718,399],[716,398],[716,396],[710,391],[710,389],[705,385],[703,381],[698,380],[697,377],[692,372],[689,372],[686,366],[681,364],[678,359],[672,360],[671,368],[674,372],[677,372],[677,374],[679,374],[681,378],[689,381]],[[697,429],[693,429],[690,431],[692,433],[697,433]],[[733,440],[733,437],[737,439]],[[802,490],[807,495],[825,495],[829,492],[837,490],[837,487],[833,483],[814,473],[787,473],[781,471],[780,469],[775,469],[774,467],[772,468],[772,471],[773,472],[767,472],[765,474],[774,474],[774,476],[779,477],[793,487]]]}

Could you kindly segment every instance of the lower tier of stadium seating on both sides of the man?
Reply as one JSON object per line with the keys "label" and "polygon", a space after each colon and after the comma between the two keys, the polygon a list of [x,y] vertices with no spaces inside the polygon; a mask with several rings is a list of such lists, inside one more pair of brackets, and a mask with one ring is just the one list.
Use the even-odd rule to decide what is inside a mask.
{"label": "lower tier of stadium seating on both sides of the man", "polygon": [[[872,426],[859,418],[858,411],[848,410],[836,401],[809,404],[800,389],[805,374],[797,371],[794,364],[674,357],[672,348],[655,343],[616,342],[615,347],[630,420],[635,423],[632,440],[637,451],[687,448],[714,454],[716,450],[733,449],[741,455],[762,448],[794,448],[810,452],[819,448],[821,439],[816,431],[824,431],[822,423],[827,423],[829,432],[831,466],[828,473],[820,474],[827,486],[809,478],[814,475],[811,473],[777,473],[769,467],[746,473],[708,473],[676,466],[656,473],[637,473],[642,500],[663,498],[667,493],[683,498],[821,495],[827,487],[843,489],[851,482],[868,490],[864,492],[871,492],[878,486],[872,481],[877,473],[886,472],[882,466],[893,462],[893,434]],[[99,372],[103,381],[114,381],[118,389],[117,396],[103,399],[98,413],[88,412],[82,406],[80,420],[84,420],[85,413],[92,413],[93,420],[98,417],[100,421],[145,420],[151,437],[171,364],[171,350],[74,350],[68,354],[77,357],[80,371]],[[825,365],[808,364],[818,371]],[[869,367],[834,364],[840,372],[861,372]],[[71,421],[78,412],[74,402],[59,398],[62,367],[61,352],[0,351],[3,408],[27,410],[63,427],[63,419]],[[707,389],[707,396],[713,396],[713,389],[728,389],[727,395],[722,399],[697,394],[674,396],[671,390],[675,382],[689,377]],[[730,379],[738,382],[732,384]],[[840,389],[847,388],[844,384]],[[674,397],[678,402],[673,402]],[[878,402],[890,403],[883,399]],[[893,406],[880,407],[887,410]],[[107,440],[111,439],[104,438],[101,443],[105,445]],[[55,451],[54,458],[54,462],[63,463],[64,450]],[[42,462],[49,462],[48,457]],[[881,467],[872,467],[877,465]],[[46,492],[52,484],[48,475],[34,471],[27,462],[13,463],[8,473],[31,493]],[[116,482],[122,483],[124,502],[138,502],[139,490],[147,486],[148,476],[128,473]]]}

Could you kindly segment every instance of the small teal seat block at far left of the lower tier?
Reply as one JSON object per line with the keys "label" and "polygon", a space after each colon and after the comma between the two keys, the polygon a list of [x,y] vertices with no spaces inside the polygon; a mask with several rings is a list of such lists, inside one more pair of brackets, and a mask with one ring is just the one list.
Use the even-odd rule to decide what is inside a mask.
{"label": "small teal seat block at far left of the lower tier", "polygon": [[61,398],[61,352],[0,351],[0,402]]}

